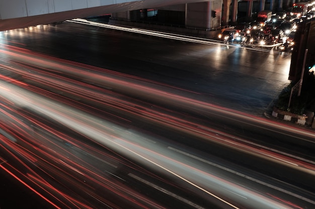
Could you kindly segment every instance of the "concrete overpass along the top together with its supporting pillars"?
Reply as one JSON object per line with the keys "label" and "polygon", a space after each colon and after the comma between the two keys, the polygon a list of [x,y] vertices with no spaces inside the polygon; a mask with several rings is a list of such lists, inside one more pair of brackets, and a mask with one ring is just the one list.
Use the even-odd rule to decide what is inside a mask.
{"label": "concrete overpass along the top together with its supporting pillars", "polygon": [[[250,17],[253,2],[257,1],[247,1]],[[264,10],[265,1],[259,1],[260,10]],[[271,9],[275,1],[279,1],[279,7],[283,4],[288,5],[290,1],[295,2],[270,0]],[[227,25],[229,21],[235,22],[238,2],[240,0],[0,0],[0,31],[104,14],[130,20],[130,11],[143,9],[182,12],[185,26],[214,28]]]}

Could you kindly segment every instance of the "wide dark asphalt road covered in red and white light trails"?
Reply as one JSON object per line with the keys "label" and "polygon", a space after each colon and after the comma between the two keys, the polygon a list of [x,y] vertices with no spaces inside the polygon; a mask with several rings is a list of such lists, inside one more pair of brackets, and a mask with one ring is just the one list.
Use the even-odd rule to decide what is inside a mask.
{"label": "wide dark asphalt road covered in red and white light trails", "polygon": [[314,134],[262,118],[290,55],[73,23],[2,35],[2,167],[53,204],[314,203]]}

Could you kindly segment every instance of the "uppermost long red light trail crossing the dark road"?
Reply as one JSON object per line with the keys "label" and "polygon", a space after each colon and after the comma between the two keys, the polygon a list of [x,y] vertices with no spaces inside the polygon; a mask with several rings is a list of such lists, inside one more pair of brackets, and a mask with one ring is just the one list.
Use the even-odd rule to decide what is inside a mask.
{"label": "uppermost long red light trail crossing the dark road", "polygon": [[[209,104],[209,103],[197,101],[197,100],[190,99],[190,98],[187,98],[187,97],[183,97],[183,96],[180,96],[180,95],[175,95],[175,94],[172,94],[172,93],[165,93],[163,91],[155,90],[155,89],[148,88],[148,87],[142,87],[142,86],[137,85],[137,84],[130,85],[130,83],[128,83],[128,82],[122,82],[122,81],[120,81],[118,79],[115,79],[115,78],[108,78],[108,77],[102,75],[101,72],[100,72],[100,74],[95,74],[95,73],[88,72],[88,71],[81,70],[81,69],[77,69],[77,68],[66,67],[64,65],[51,63],[51,62],[48,62],[48,61],[42,61],[42,60],[36,59],[34,57],[18,55],[16,53],[10,53],[10,52],[4,51],[4,50],[0,50],[0,51],[2,53],[10,54],[10,55],[15,56],[17,58],[23,58],[23,59],[27,59],[27,60],[32,60],[35,63],[37,63],[38,65],[49,65],[49,66],[51,66],[53,68],[58,68],[58,71],[63,71],[63,73],[70,73],[71,75],[77,76],[79,78],[82,78],[84,76],[86,79],[93,80],[93,82],[96,82],[96,83],[101,84],[101,85],[104,85],[105,81],[107,81],[105,83],[106,85],[111,86],[111,87],[116,87],[116,88],[117,87],[118,88],[124,87],[126,85],[126,86],[129,86],[129,88],[132,90],[133,93],[138,93],[141,97],[148,96],[147,91],[150,91],[150,94],[159,96],[159,97],[156,97],[156,98],[155,97],[151,97],[151,99],[152,98],[153,99],[159,99],[161,97],[165,97],[163,99],[163,101],[169,100],[169,101],[172,101],[172,103],[174,103],[176,105],[178,105],[179,103],[185,104],[186,106],[189,106],[189,107],[191,105],[193,105],[193,106],[196,107],[196,109],[201,108],[201,109],[205,109],[205,110],[209,109],[209,110],[213,110],[213,111],[216,111],[216,112],[221,112],[223,114],[226,114],[229,117],[229,119],[230,119],[231,116],[242,118],[242,119],[248,121],[248,124],[251,124],[251,125],[253,125],[253,123],[257,123],[257,124],[260,124],[260,125],[265,125],[267,127],[274,126],[274,127],[279,128],[279,129],[287,131],[288,135],[290,135],[291,132],[296,132],[296,133],[298,133],[300,135],[305,135],[305,136],[308,136],[308,137],[311,137],[311,138],[315,138],[315,134],[313,132],[307,131],[305,129],[292,128],[292,126],[285,125],[283,123],[277,123],[277,122],[274,122],[274,121],[271,121],[271,120],[263,119],[261,117],[255,117],[253,115],[250,115],[250,114],[247,114],[247,113],[244,113],[244,112],[239,112],[239,111],[231,110],[231,109],[228,109],[228,108],[218,107],[216,105],[212,105],[212,104]],[[58,61],[60,61],[60,60],[58,60]],[[85,66],[85,65],[83,65],[83,66]],[[97,70],[98,68],[94,68],[94,69]],[[103,71],[104,71],[104,69],[103,69]],[[4,88],[4,87],[2,87],[2,88]],[[175,101],[175,100],[177,100],[177,101]],[[269,129],[267,129],[267,130],[269,130]],[[299,139],[305,140],[304,138],[299,138]],[[313,141],[309,141],[308,140],[308,142],[313,142]]]}

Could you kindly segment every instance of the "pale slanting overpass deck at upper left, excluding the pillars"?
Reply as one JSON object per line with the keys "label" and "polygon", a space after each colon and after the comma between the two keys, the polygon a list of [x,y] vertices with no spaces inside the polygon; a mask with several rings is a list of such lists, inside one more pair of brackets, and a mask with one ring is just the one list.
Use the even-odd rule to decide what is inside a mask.
{"label": "pale slanting overpass deck at upper left, excluding the pillars", "polygon": [[[20,1],[17,3],[17,1]],[[40,0],[45,1],[45,0]],[[2,2],[0,0],[0,31],[6,31],[17,28],[25,28],[29,26],[44,25],[50,23],[61,22],[65,20],[75,19],[75,18],[86,18],[90,16],[100,16],[104,14],[112,14],[119,12],[126,12],[131,10],[140,10],[145,8],[159,8],[166,7],[170,5],[186,4],[186,3],[197,3],[204,2],[205,0],[144,0],[144,1],[133,1],[133,0],[124,0],[114,2],[125,2],[121,4],[108,4],[106,6],[95,6],[88,8],[88,4],[85,3],[86,0],[80,0],[81,5],[85,5],[85,8],[79,8],[73,10],[74,5],[71,6],[71,1],[61,1],[60,5],[49,6],[51,0],[46,0],[47,4],[44,4],[44,7],[37,6],[32,4],[32,7],[26,7],[28,0],[15,0],[15,3],[10,5],[8,1],[5,0]],[[59,1],[60,2],[60,1]],[[70,2],[70,6],[69,6]],[[89,1],[91,2],[91,0]],[[92,1],[93,2],[93,1]],[[96,2],[99,2],[97,0]],[[25,5],[26,3],[26,5]],[[64,6],[62,4],[65,4]],[[91,4],[91,3],[90,3]],[[96,4],[96,3],[95,3]],[[48,5],[48,6],[47,6]],[[47,6],[47,7],[46,7]],[[67,6],[70,7],[67,9]],[[7,7],[7,8],[6,8]],[[58,9],[59,8],[59,9]],[[59,11],[58,11],[59,10]],[[60,10],[66,10],[61,11]],[[42,11],[42,14],[38,14],[39,11]],[[21,14],[22,13],[22,14]],[[28,15],[28,14],[38,14],[38,15]]]}

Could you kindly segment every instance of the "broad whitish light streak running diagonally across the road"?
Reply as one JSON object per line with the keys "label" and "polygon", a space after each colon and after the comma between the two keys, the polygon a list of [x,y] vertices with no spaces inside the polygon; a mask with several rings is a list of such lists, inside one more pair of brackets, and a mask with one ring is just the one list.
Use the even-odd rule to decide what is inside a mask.
{"label": "broad whitish light streak running diagonally across the road", "polygon": [[[190,183],[191,185],[196,186],[197,188],[203,190],[204,192],[207,192],[209,195],[216,197],[217,199],[225,202],[226,204],[234,208],[238,207],[216,196],[215,194],[209,192],[207,189],[197,185],[196,183],[188,179],[189,178],[194,179],[201,185],[206,185],[205,182],[210,183],[211,180],[210,183],[211,185],[217,184],[217,187],[215,186],[216,189],[219,189],[220,192],[223,192],[222,189],[227,189],[231,191],[231,193],[229,194],[229,198],[238,201],[242,200],[243,204],[250,204],[251,206],[255,205],[258,206],[259,208],[265,207],[267,205],[270,208],[288,208],[284,204],[281,204],[268,198],[264,198],[259,194],[255,194],[247,190],[246,188],[241,188],[236,184],[226,182],[223,179],[219,179],[208,173],[204,173],[203,171],[190,167],[181,162],[175,161],[172,158],[160,155],[154,152],[153,150],[149,150],[146,149],[145,147],[141,147],[139,145],[130,143],[125,139],[120,138],[121,134],[124,133],[124,130],[120,130],[118,128],[116,128],[115,130],[113,130],[113,128],[109,129],[108,127],[112,127],[112,125],[109,122],[103,121],[102,124],[99,124],[99,119],[92,117],[87,113],[72,109],[69,106],[56,103],[49,99],[44,99],[43,97],[40,97],[36,94],[17,88],[12,84],[8,84],[3,81],[1,81],[0,83],[1,85],[6,86],[7,89],[10,89],[10,91],[8,92],[0,92],[1,95],[4,98],[7,98],[8,100],[14,102],[16,105],[21,107],[27,107],[29,109],[34,110],[35,112],[47,115],[48,117],[55,119],[62,124],[65,124],[71,129],[76,130],[79,133],[83,133],[89,138],[92,138],[95,141],[102,143],[113,150],[116,150],[118,153],[124,153],[132,158],[135,158],[135,160],[137,161],[142,159],[142,161],[144,162],[150,162],[176,175],[177,177],[183,179],[184,181]],[[145,142],[140,144],[145,144]],[[160,149],[165,148],[160,147]],[[179,169],[179,173],[182,173],[181,175],[174,171],[174,166],[177,169]],[[204,179],[204,181],[200,182],[201,179]],[[211,189],[214,190],[215,188],[212,187]],[[232,192],[232,190],[234,190],[234,192]],[[249,201],[249,199],[246,199],[246,201],[244,201],[243,197],[240,199],[239,194],[237,194],[240,191],[242,191],[243,193],[240,196],[251,197],[253,202]],[[261,204],[265,206],[262,206]]]}

